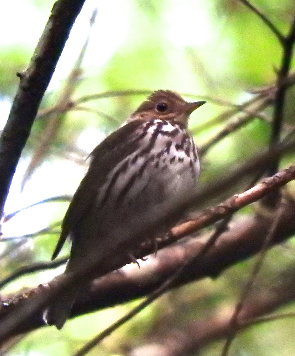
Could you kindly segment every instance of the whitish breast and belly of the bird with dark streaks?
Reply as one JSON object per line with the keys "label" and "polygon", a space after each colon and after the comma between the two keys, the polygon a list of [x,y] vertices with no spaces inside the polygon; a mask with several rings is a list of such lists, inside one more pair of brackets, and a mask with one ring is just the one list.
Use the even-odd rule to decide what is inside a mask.
{"label": "whitish breast and belly of the bird with dark streaks", "polygon": [[[82,234],[92,241],[113,239],[123,230],[128,235],[129,226],[136,225],[133,230],[140,231],[141,226],[152,225],[152,219],[169,218],[174,206],[187,202],[195,192],[200,166],[192,138],[185,138],[175,137],[168,149],[171,140],[163,135],[148,152],[143,154],[139,148],[121,161],[100,188],[96,203],[82,222]],[[153,231],[162,230],[155,226]]]}

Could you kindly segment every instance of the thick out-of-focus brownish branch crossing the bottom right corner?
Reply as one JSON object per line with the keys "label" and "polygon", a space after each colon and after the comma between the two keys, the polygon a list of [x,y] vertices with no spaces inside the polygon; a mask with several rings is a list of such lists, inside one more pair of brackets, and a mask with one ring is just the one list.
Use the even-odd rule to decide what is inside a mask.
{"label": "thick out-of-focus brownish branch crossing the bottom right corner", "polygon": [[[247,297],[240,317],[238,319],[237,332],[249,328],[257,323],[272,321],[279,318],[293,316],[294,313],[284,313],[278,315],[267,315],[295,299],[295,271],[294,267],[289,266],[286,271],[279,273],[278,276],[269,276],[266,286],[256,286],[255,290]],[[156,355],[154,350],[161,350],[161,355],[165,356],[188,356],[201,354],[201,348],[212,341],[223,339],[230,330],[230,319],[232,310],[229,307],[217,310],[205,318],[188,321],[185,325],[171,330],[163,331],[161,326],[160,335],[154,335],[150,344],[140,345],[130,350],[128,355],[150,356]],[[154,341],[155,340],[155,341]],[[154,341],[154,342],[153,342]],[[279,352],[279,351],[278,351]]]}

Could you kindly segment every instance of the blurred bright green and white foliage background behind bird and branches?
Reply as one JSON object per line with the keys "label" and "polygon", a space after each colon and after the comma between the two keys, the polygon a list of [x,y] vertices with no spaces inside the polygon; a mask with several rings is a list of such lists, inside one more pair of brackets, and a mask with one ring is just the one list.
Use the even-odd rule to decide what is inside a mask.
{"label": "blurred bright green and white foliage background behind bird and branches", "polygon": [[[42,16],[50,14],[53,4],[51,0],[26,0],[26,2],[35,6],[36,11]],[[90,1],[86,3],[88,7],[86,6],[87,9],[84,10],[88,12],[85,15],[86,12],[83,10],[84,27],[87,27],[87,21],[95,6],[94,3],[90,4]],[[89,40],[91,56],[87,57],[87,49],[85,58],[85,63],[88,65],[83,62],[81,73],[76,81],[69,82],[70,70],[89,33],[81,30],[85,36],[81,35],[82,39],[77,41],[82,45],[79,48],[76,45],[76,57],[73,56],[72,50],[65,49],[63,63],[67,64],[63,64],[62,69],[56,73],[40,110],[55,106],[63,90],[69,85],[73,86],[71,88],[73,103],[85,95],[129,89],[172,89],[195,95],[196,98],[207,95],[212,100],[193,113],[190,121],[196,141],[202,145],[221,130],[224,122],[217,122],[205,130],[199,127],[229,108],[229,105],[214,104],[214,98],[222,99],[227,103],[243,103],[252,97],[251,90],[265,87],[275,81],[275,70],[280,66],[282,55],[280,44],[269,28],[238,0],[129,0],[125,1],[126,11],[123,14],[117,13],[121,11],[120,2],[114,0],[110,3],[113,8],[112,13],[104,9],[102,4],[98,4],[97,22],[107,19],[108,28],[103,32],[95,32],[94,26],[91,31]],[[263,10],[280,31],[288,32],[289,24],[295,14],[293,0],[256,0],[255,5]],[[13,19],[14,14],[7,12],[6,16]],[[30,12],[24,16],[28,26],[33,26],[34,19],[30,17]],[[120,18],[122,23],[128,22],[123,26],[128,28],[128,31],[124,40],[110,51],[108,59],[97,66],[95,62],[102,56],[103,51],[107,51],[107,45],[103,47],[99,39],[103,37],[107,43],[109,36],[112,38],[111,28],[118,33],[118,36],[120,31],[123,31],[120,22],[113,21],[113,17]],[[77,35],[77,32],[75,34]],[[69,42],[72,47],[75,47],[73,44],[76,38],[70,37]],[[99,44],[96,45],[96,42]],[[12,102],[19,82],[15,74],[26,68],[32,52],[33,47],[29,48],[26,44],[11,43],[9,46],[2,46],[0,100],[5,98]],[[74,169],[65,168],[62,171],[58,162],[63,164],[65,161],[74,160],[76,163],[73,165],[83,166],[83,158],[87,152],[89,153],[103,136],[119,126],[144,96],[124,95],[87,100],[78,105],[80,110],[73,107],[66,113],[55,114],[55,119],[59,120],[60,125],[47,147],[45,157],[38,163],[40,168],[37,169],[36,174],[33,174],[32,182],[44,186],[43,170],[47,175],[47,187],[55,177],[57,181],[60,179],[65,182],[57,188],[56,195],[72,194],[83,174],[80,171],[77,173]],[[286,122],[291,126],[294,126],[294,101],[295,89],[293,88],[288,92],[286,104]],[[271,117],[272,111],[268,108],[264,113]],[[51,119],[52,115],[46,115],[36,120],[23,161],[27,160],[28,163]],[[90,131],[94,135],[90,135],[88,140],[84,139],[84,143],[78,145],[77,142],[83,132]],[[268,145],[269,135],[270,123],[255,118],[242,129],[221,140],[203,158],[201,182],[211,182],[231,167],[255,155]],[[87,148],[85,148],[85,141],[88,141]],[[293,159],[293,155],[289,155],[284,159],[283,164],[287,165]],[[48,169],[50,178],[48,178]],[[39,180],[34,180],[36,175]],[[230,192],[237,192],[245,188],[246,183],[248,182],[240,182],[239,187],[229,187],[228,192],[222,194],[227,196]],[[49,210],[45,210],[43,215],[47,215],[48,224],[62,219],[66,206],[66,203],[53,203],[50,209],[47,207]],[[251,209],[244,209],[241,214],[247,214]],[[30,221],[29,230],[32,232],[38,230],[40,227],[35,226],[37,218],[35,219],[33,210],[29,209],[27,214],[26,216],[31,216],[26,218]],[[6,256],[5,263],[1,264],[1,276],[7,276],[19,266],[49,260],[57,238],[58,231],[53,235],[40,235],[32,239],[29,245],[24,244],[22,250],[17,246],[19,240],[10,243],[1,242],[2,253],[15,244],[15,248],[12,248],[14,252]],[[68,248],[68,246],[65,248],[64,253]],[[293,260],[292,253],[276,247],[266,259],[261,274],[267,277],[277,272],[283,265],[288,266],[289,263],[294,262]],[[227,306],[232,306],[237,301],[240,288],[248,278],[252,265],[253,260],[242,262],[229,268],[214,281],[205,279],[167,293],[109,336],[89,355],[123,355],[125,349],[145,344],[150,335],[160,335],[161,330],[164,334],[171,325],[182,328],[187,321],[200,319],[209,314],[214,315]],[[22,286],[36,285],[44,278],[52,278],[55,273],[47,271],[21,278],[7,286],[4,293],[15,291]],[[7,355],[72,355],[91,336],[117,320],[137,302],[71,320],[62,331],[52,327],[36,330],[25,335]],[[282,310],[293,308],[294,305],[289,305]],[[236,338],[230,355],[294,354],[294,323],[294,320],[285,319],[253,326]],[[219,354],[221,347],[221,342],[215,342],[202,350],[202,355]]]}

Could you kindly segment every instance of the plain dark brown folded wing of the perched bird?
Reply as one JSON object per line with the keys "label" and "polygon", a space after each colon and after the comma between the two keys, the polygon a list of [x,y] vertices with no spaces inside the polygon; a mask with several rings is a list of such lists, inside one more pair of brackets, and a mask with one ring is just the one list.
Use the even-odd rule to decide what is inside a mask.
{"label": "plain dark brown folded wing of the perched bird", "polygon": [[57,257],[71,231],[91,208],[108,173],[138,147],[139,137],[135,130],[143,122],[143,120],[135,120],[120,127],[90,153],[92,161],[64,216],[61,236],[53,252],[52,260]]}

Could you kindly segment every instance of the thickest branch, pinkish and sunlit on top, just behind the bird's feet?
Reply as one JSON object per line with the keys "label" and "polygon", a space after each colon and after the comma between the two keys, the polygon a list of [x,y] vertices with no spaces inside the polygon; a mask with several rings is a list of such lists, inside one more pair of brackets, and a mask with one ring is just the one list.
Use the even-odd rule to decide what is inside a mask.
{"label": "thickest branch, pinkish and sunlit on top, just behind the bird's feet", "polygon": [[[295,231],[294,219],[295,203],[288,201],[284,214],[278,227],[278,233],[272,244],[279,244],[288,239]],[[274,213],[275,214],[275,213]],[[232,223],[230,230],[224,232],[218,240],[218,245],[213,246],[206,255],[188,266],[182,276],[175,281],[175,286],[180,286],[203,277],[217,277],[224,269],[238,261],[257,253],[269,229],[273,215],[249,216],[239,218]],[[195,256],[203,248],[208,238],[205,236],[193,239],[183,244],[176,244],[149,257],[149,264],[141,262],[140,270],[134,266],[128,274],[110,273],[105,277],[96,279],[90,289],[85,289],[76,300],[71,316],[90,313],[95,310],[112,307],[128,300],[137,299],[150,294],[158,288],[171,274],[187,261],[190,256]],[[155,278],[155,276],[157,276]],[[43,286],[30,290],[26,295],[42,293]],[[5,307],[0,308],[0,318],[15,309],[17,304],[24,301],[25,296],[20,295],[7,301]],[[30,318],[19,325],[12,335],[27,332],[44,325],[42,313],[32,314]]]}

